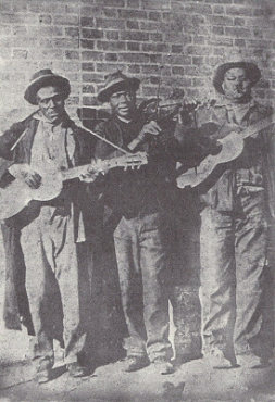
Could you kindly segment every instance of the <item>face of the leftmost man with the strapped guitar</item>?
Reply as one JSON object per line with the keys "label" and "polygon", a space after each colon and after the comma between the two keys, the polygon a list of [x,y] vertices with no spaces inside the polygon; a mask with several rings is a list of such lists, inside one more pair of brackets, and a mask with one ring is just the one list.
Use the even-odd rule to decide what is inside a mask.
{"label": "face of the leftmost man with the strapped guitar", "polygon": [[37,103],[45,115],[51,123],[61,120],[64,113],[64,96],[58,87],[43,87],[37,92]]}

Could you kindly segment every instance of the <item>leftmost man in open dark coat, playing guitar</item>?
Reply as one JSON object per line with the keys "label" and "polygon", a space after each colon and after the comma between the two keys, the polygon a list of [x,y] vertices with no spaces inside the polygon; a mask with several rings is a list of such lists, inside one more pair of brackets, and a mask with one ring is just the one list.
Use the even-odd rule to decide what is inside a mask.
{"label": "leftmost man in open dark coat, playing guitar", "polygon": [[[13,162],[2,184],[15,178],[36,189],[48,166],[60,171],[91,162],[89,134],[78,128],[65,112],[70,91],[68,80],[50,70],[41,70],[33,76],[25,99],[37,104],[39,110],[0,137],[1,158]],[[5,221],[5,230],[9,227],[21,229],[26,290],[36,334],[33,353],[39,382],[49,380],[52,374],[53,338],[62,324],[55,324],[53,316],[60,301],[66,367],[74,377],[86,374],[79,361],[86,339],[80,321],[84,289],[79,269],[91,261],[89,241],[95,222],[91,202],[88,202],[88,185],[78,179],[65,183],[55,199],[33,201]]]}

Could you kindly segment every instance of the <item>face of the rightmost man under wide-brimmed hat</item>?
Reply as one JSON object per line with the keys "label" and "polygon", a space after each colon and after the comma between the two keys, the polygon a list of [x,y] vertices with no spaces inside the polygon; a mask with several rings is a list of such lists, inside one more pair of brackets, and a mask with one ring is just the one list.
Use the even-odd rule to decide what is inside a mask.
{"label": "face of the rightmost man under wide-brimmed hat", "polygon": [[224,75],[222,87],[227,99],[240,102],[250,96],[251,80],[243,68],[230,68]]}

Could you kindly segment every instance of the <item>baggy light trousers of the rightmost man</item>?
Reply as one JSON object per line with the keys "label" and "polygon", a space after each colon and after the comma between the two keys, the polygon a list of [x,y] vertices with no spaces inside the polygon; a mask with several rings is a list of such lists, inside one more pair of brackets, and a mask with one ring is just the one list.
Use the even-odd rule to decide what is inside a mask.
{"label": "baggy light trousers of the rightmost man", "polygon": [[203,353],[264,354],[267,219],[264,191],[240,188],[232,212],[201,212]]}

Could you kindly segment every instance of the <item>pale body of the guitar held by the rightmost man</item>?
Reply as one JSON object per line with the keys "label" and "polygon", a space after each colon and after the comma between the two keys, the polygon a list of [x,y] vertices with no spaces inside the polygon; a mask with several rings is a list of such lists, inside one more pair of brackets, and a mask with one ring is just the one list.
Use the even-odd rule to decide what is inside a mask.
{"label": "pale body of the guitar held by the rightmost man", "polygon": [[218,142],[222,145],[218,154],[208,155],[197,168],[189,168],[177,177],[178,188],[197,187],[209,177],[218,164],[235,160],[243,150],[243,139],[238,133],[230,133]]}

